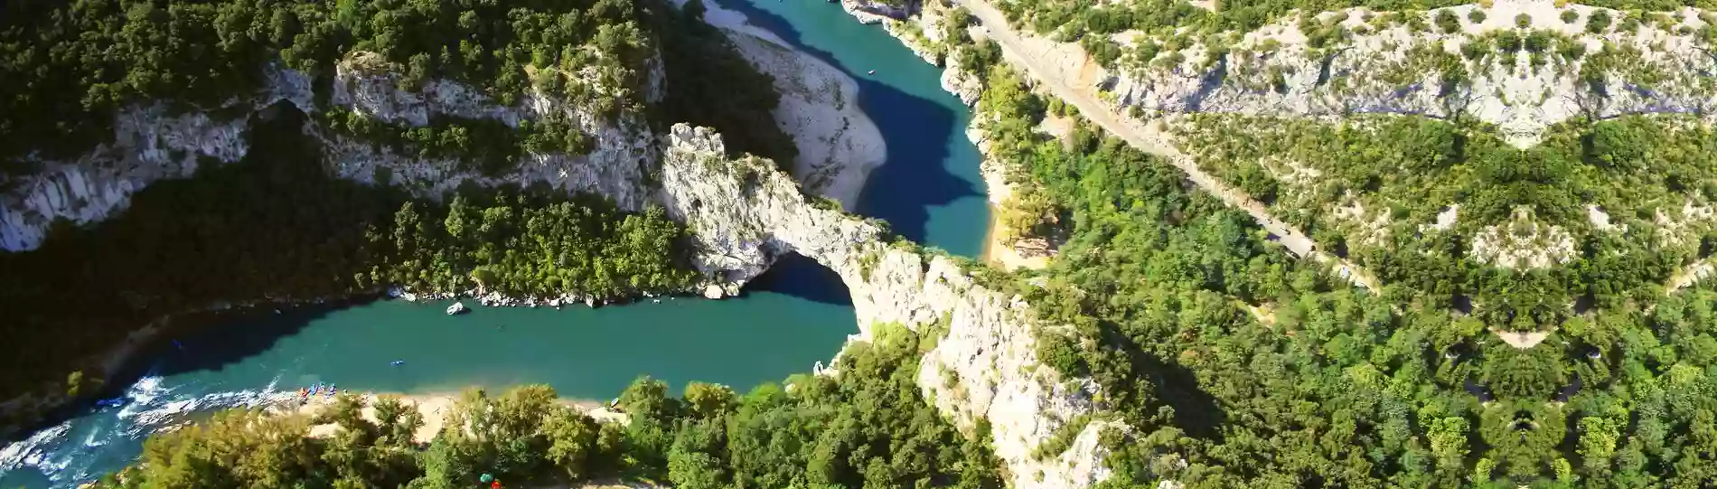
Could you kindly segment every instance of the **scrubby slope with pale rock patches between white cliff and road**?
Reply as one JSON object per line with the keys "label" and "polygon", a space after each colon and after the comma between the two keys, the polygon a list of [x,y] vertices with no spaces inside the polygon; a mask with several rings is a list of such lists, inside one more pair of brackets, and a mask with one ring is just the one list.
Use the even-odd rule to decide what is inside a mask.
{"label": "scrubby slope with pale rock patches between white cliff and road", "polygon": [[1386,295],[1549,331],[1650,304],[1710,252],[1712,129],[1691,117],[1566,124],[1516,149],[1489,127],[1200,115],[1200,166],[1377,273]]}

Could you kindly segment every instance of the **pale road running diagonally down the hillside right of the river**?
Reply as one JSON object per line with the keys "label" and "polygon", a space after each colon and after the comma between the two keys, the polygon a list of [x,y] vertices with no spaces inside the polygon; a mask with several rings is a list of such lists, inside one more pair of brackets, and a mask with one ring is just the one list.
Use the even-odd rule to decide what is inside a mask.
{"label": "pale road running diagonally down the hillside right of the river", "polygon": [[[1223,184],[1210,173],[1198,168],[1192,156],[1186,156],[1169,144],[1161,130],[1137,120],[1118,117],[1097,98],[1094,89],[1095,79],[1090,79],[1090,75],[1095,75],[1101,70],[1087,62],[1085,53],[1080,51],[1078,46],[1037,38],[1023,38],[1015,33],[1011,26],[1008,26],[1008,17],[987,2],[962,0],[960,5],[965,5],[967,10],[970,10],[972,15],[984,24],[984,33],[991,41],[1001,45],[1001,53],[1008,62],[1015,67],[1023,67],[1032,79],[1046,86],[1063,101],[1077,106],[1085,118],[1095,122],[1109,134],[1119,136],[1133,148],[1162,156],[1181,172],[1186,172],[1186,178],[1195,185],[1214,194],[1217,199],[1223,199],[1223,202],[1252,214],[1252,218],[1257,220],[1264,230],[1276,235],[1276,240],[1295,256],[1310,257],[1319,263],[1334,263],[1336,275],[1348,278],[1355,285],[1365,287],[1367,290],[1379,290],[1379,283],[1370,273],[1365,273],[1362,268],[1346,259],[1319,251],[1317,244],[1310,237],[1272,216],[1262,202],[1252,199],[1238,189],[1229,187],[1228,184]],[[1082,81],[1082,77],[1085,81]]]}

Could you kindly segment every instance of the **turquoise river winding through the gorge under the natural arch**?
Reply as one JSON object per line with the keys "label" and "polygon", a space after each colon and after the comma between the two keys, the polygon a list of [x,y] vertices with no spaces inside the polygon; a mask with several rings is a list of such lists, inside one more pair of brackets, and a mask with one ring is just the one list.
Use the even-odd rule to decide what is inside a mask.
{"label": "turquoise river winding through the gorge under the natural arch", "polygon": [[[970,113],[941,91],[937,69],[836,3],[723,5],[858,79],[858,103],[881,127],[888,161],[872,172],[857,213],[927,245],[982,252],[989,209],[977,148],[965,139]],[[76,487],[134,460],[156,429],[312,383],[410,395],[546,383],[563,396],[606,400],[647,374],[675,389],[709,381],[743,391],[809,372],[857,331],[840,278],[800,257],[728,300],[477,307],[457,317],[445,305],[254,311],[172,338],[112,388],[124,405],[89,407],[0,448],[0,487]]]}

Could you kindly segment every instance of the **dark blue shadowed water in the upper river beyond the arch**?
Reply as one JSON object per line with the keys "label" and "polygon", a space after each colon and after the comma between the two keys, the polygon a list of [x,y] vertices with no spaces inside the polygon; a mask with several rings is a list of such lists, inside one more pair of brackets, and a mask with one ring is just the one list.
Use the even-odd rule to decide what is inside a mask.
{"label": "dark blue shadowed water in the upper river beyond the arch", "polygon": [[[987,226],[987,220],[984,216],[977,216],[977,220],[984,220],[982,223],[951,223],[972,228],[970,237],[956,237],[960,242],[929,240],[931,208],[948,206],[962,197],[984,197],[984,190],[979,187],[980,184],[977,184],[975,178],[965,180],[960,175],[950,173],[950,170],[943,166],[943,163],[953,156],[950,151],[950,139],[958,137],[960,141],[956,144],[967,144],[965,134],[956,134],[958,113],[944,103],[910,94],[900,88],[881,82],[877,77],[869,75],[864,70],[853,72],[853,69],[836,60],[833,53],[807,46],[804,33],[800,33],[800,29],[785,17],[759,9],[752,5],[752,2],[767,0],[728,0],[721,2],[721,7],[745,14],[752,24],[769,29],[788,45],[810,53],[812,57],[855,79],[858,82],[858,106],[864,108],[865,115],[869,115],[872,122],[876,122],[877,129],[883,132],[883,139],[888,142],[888,160],[883,166],[871,172],[871,178],[865,182],[865,187],[858,196],[858,206],[852,211],[886,220],[889,230],[913,242],[937,245],[948,249],[950,252],[967,256],[977,256],[982,252],[982,232]],[[840,22],[853,22],[850,24],[852,27],[881,29],[876,26],[858,26],[857,21],[840,10],[838,3],[805,3],[807,5],[800,9],[829,9],[833,14],[841,17]],[[903,57],[903,63],[920,65],[913,69],[931,69],[903,45],[888,38],[888,34],[881,31],[876,34],[881,36],[881,41],[891,43],[886,48],[898,51],[898,57]],[[865,39],[843,41],[864,43]],[[941,94],[939,88],[937,94]],[[953,98],[950,96],[950,100]],[[958,103],[955,103],[955,106],[958,106]],[[960,130],[963,130],[963,127]],[[977,151],[974,149],[972,153],[975,154]],[[970,165],[974,166],[974,175],[977,175],[977,156],[972,156]],[[982,202],[975,202],[975,206],[984,209]]]}

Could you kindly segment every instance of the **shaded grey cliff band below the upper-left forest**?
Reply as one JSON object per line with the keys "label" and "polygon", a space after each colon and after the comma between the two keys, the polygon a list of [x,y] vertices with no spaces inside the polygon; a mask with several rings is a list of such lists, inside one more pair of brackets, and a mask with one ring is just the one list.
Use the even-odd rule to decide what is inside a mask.
{"label": "shaded grey cliff band below the upper-left forest", "polygon": [[[541,93],[517,106],[501,106],[452,81],[431,81],[421,91],[405,91],[390,74],[357,69],[362,63],[362,57],[354,57],[338,67],[331,94],[335,105],[407,125],[426,125],[431,115],[517,125],[560,112],[592,136],[596,149],[589,154],[527,154],[517,172],[484,177],[458,170],[452,160],[400,156],[312,129],[325,139],[328,161],[340,177],[373,182],[376,175],[390,173],[393,182],[431,197],[467,180],[484,185],[543,182],[556,189],[598,192],[627,209],[640,209],[649,197],[644,170],[658,158],[656,136],[640,115],[604,120]],[[659,63],[652,67],[651,74],[661,77]],[[659,96],[659,86],[661,81],[652,79],[649,96]],[[160,103],[125,108],[115,117],[112,144],[74,161],[41,161],[43,172],[7,182],[10,190],[0,194],[0,249],[34,249],[55,220],[77,225],[100,221],[122,211],[132,192],[156,180],[191,177],[197,165],[237,161],[249,149],[244,130],[252,112],[280,101],[311,112],[311,98],[304,74],[275,70],[264,94],[244,106],[191,113],[172,113]]]}

